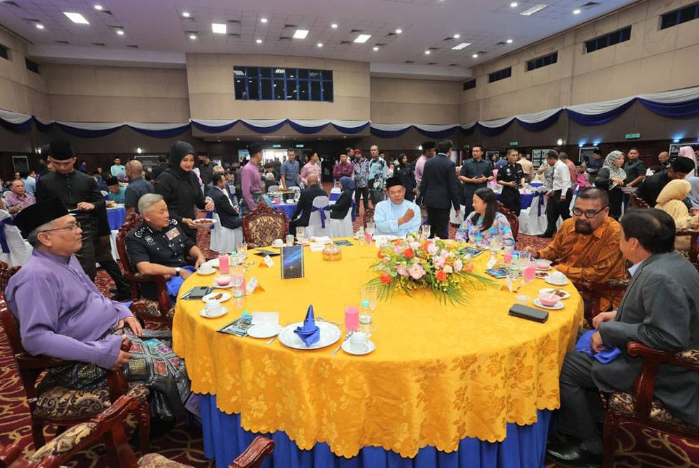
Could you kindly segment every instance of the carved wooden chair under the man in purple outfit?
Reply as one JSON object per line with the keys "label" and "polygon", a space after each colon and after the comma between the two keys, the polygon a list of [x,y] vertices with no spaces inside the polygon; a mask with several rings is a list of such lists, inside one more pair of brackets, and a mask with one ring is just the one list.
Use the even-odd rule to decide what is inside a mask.
{"label": "carved wooden chair under the man in purple outfit", "polygon": [[[0,323],[7,335],[15,364],[20,374],[20,380],[27,395],[29,415],[31,416],[31,436],[34,447],[45,444],[43,426],[46,424],[66,427],[82,423],[101,413],[121,395],[130,395],[138,401],[136,419],[139,425],[140,447],[143,451],[149,446],[150,437],[150,391],[143,383],[127,382],[122,370],[106,370],[107,385],[88,390],[75,390],[51,384],[49,375],[43,376],[50,367],[71,365],[74,361],[66,361],[46,356],[32,356],[24,350],[20,337],[20,326],[15,316],[10,312],[5,298],[0,294]],[[131,342],[122,346],[128,351]],[[39,377],[43,376],[41,381]]]}

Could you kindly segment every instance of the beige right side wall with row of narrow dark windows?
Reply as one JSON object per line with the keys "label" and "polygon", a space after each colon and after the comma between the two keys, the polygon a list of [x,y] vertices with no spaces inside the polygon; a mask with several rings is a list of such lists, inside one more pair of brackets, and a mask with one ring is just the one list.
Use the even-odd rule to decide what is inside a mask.
{"label": "beige right side wall with row of narrow dark windows", "polygon": [[[659,15],[696,0],[647,0],[474,68],[459,122],[606,101],[699,85],[699,22],[659,29]],[[631,25],[630,41],[584,54],[589,39]],[[526,61],[559,52],[558,63],[525,72]],[[488,73],[512,66],[512,77]]]}

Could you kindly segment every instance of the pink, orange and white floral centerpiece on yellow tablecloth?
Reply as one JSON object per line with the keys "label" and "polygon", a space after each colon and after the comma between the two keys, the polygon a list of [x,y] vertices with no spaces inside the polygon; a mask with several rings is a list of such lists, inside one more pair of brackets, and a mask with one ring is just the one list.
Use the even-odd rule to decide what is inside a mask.
{"label": "pink, orange and white floral centerpiece on yellow tablecloth", "polygon": [[385,300],[396,290],[410,295],[418,288],[429,289],[444,304],[468,302],[465,286],[492,286],[493,281],[473,272],[473,264],[462,246],[444,240],[419,240],[408,235],[378,251],[371,268],[380,276],[368,282]]}

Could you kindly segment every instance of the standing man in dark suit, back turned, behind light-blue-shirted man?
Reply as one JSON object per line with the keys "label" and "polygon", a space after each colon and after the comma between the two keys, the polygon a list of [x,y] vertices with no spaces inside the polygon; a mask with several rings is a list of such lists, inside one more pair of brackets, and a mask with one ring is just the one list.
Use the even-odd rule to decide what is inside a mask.
{"label": "standing man in dark suit, back turned, behind light-blue-shirted man", "polygon": [[449,208],[454,207],[459,215],[459,180],[456,179],[456,164],[449,159],[452,140],[440,141],[437,156],[425,163],[420,182],[418,205],[427,207],[427,220],[430,224],[430,237],[449,238]]}

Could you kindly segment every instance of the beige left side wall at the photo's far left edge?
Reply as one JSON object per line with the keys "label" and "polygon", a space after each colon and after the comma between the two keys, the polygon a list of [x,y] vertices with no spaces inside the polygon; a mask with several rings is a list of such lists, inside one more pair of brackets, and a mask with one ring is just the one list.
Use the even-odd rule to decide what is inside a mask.
{"label": "beige left side wall at the photo's far left edge", "polygon": [[4,29],[0,29],[0,44],[10,49],[10,59],[0,59],[0,109],[50,118],[46,82],[24,63],[27,45]]}

